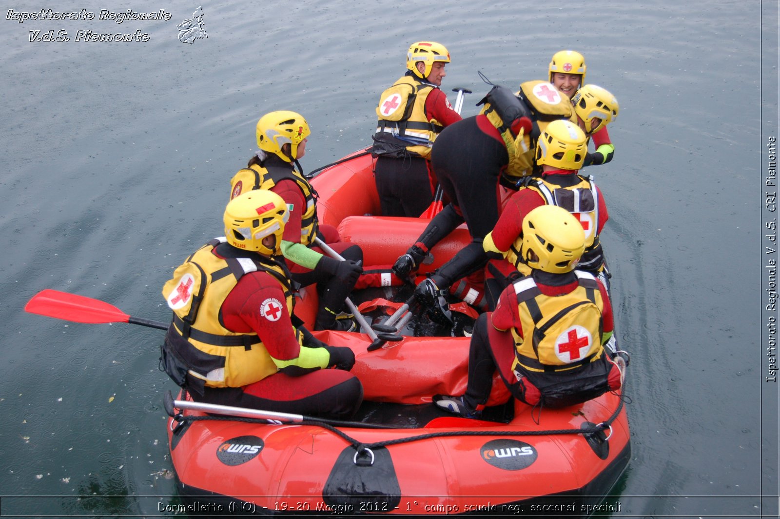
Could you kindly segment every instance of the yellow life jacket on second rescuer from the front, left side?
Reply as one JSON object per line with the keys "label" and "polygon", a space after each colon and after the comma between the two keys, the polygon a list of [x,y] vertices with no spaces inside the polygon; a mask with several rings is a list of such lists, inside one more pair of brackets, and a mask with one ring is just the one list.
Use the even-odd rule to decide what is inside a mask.
{"label": "yellow life jacket on second rescuer from the front, left side", "polygon": [[230,181],[230,199],[232,200],[248,190],[272,190],[282,180],[293,180],[298,184],[306,199],[306,208],[301,212],[300,219],[300,243],[309,246],[314,242],[314,237],[317,236],[319,229],[319,220],[317,220],[318,195],[306,177],[292,165],[288,168],[284,165],[268,164],[267,158],[265,166],[253,164],[248,168],[240,169]]}

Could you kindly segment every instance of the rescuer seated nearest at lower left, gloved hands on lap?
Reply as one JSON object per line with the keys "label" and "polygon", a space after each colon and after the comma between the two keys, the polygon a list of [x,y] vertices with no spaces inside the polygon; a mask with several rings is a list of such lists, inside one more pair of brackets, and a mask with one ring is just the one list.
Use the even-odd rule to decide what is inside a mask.
{"label": "rescuer seated nearest at lower left, gloved hands on lap", "polygon": [[165,371],[199,402],[351,418],[363,400],[349,373],[353,351],[290,320],[295,299],[281,255],[287,204],[250,190],[223,219],[225,236],[190,255],[162,289],[173,311]]}

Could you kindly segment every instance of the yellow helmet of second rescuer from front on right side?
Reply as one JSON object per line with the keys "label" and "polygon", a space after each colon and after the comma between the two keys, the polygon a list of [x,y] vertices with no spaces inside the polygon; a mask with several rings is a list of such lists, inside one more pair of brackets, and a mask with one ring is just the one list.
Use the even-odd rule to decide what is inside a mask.
{"label": "yellow helmet of second rescuer from front on right side", "polygon": [[587,140],[580,126],[558,119],[542,130],[537,140],[536,163],[558,169],[580,169],[587,154]]}

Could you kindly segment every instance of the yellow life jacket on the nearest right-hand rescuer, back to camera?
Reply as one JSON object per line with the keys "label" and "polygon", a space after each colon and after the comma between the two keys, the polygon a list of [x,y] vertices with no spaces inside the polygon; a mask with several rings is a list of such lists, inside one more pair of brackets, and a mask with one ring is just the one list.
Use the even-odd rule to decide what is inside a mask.
{"label": "yellow life jacket on the nearest right-hand rescuer, back to camera", "polygon": [[575,271],[579,286],[561,296],[545,296],[530,276],[514,286],[522,336],[512,327],[512,370],[569,371],[597,361],[601,346],[604,302],[593,275]]}

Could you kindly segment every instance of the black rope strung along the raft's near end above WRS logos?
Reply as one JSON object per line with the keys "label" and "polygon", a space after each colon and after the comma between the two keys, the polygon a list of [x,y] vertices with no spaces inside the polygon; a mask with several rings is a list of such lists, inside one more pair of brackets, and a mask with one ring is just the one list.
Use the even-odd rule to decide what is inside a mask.
{"label": "black rope strung along the raft's near end above WRS logos", "polygon": [[[391,445],[399,445],[401,443],[419,442],[420,440],[424,440],[424,439],[447,438],[451,436],[545,436],[545,435],[581,434],[587,437],[587,436],[594,436],[597,435],[598,433],[602,433],[606,430],[609,430],[610,431],[609,436],[607,436],[606,439],[602,440],[602,441],[606,441],[612,435],[612,422],[614,422],[618,418],[618,415],[620,414],[620,411],[622,411],[624,403],[631,403],[631,399],[629,396],[620,394],[618,407],[615,409],[615,412],[612,413],[612,416],[610,416],[605,421],[602,421],[601,423],[588,428],[551,429],[548,431],[443,431],[443,432],[430,432],[427,434],[409,436],[406,438],[389,439],[389,440],[385,440],[384,442],[374,442],[374,443],[361,443],[360,441],[346,434],[346,432],[341,431],[339,428],[336,428],[334,425],[331,425],[325,421],[304,419],[303,421],[299,421],[296,422],[295,424],[290,424],[290,425],[316,425],[317,427],[324,428],[332,432],[333,434],[340,436],[342,439],[344,439],[347,443],[351,444],[355,448],[356,450],[355,462],[357,463],[358,458],[363,456],[370,456],[371,459],[373,460],[374,453],[372,449],[378,449],[380,447],[386,447]],[[184,416],[181,413],[176,414],[172,418],[179,422],[179,424],[176,425],[176,428],[173,429],[174,433],[176,433],[176,431],[178,431],[179,428],[182,428],[188,421],[218,420],[218,421],[243,421],[247,423],[256,423],[256,424],[269,423],[269,420],[266,420],[264,418],[241,418],[241,417],[214,416],[214,415]],[[273,421],[273,423],[278,423],[278,422]],[[388,427],[385,425],[377,425],[377,424],[367,424],[359,421],[341,421],[339,422],[339,425],[341,425],[342,427],[348,426],[348,427],[360,427],[360,428],[381,428],[381,429],[392,429],[394,431],[403,430],[403,428],[394,428],[394,427]]]}

